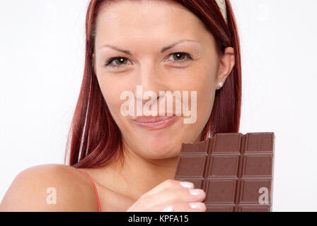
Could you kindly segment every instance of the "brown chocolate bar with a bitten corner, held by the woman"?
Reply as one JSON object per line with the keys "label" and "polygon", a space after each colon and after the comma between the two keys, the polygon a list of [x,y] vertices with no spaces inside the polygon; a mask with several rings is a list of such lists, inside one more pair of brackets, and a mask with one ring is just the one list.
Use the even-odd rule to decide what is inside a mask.
{"label": "brown chocolate bar with a bitten corner, held by the woman", "polygon": [[175,179],[206,193],[207,212],[270,212],[274,133],[217,133],[182,143]]}

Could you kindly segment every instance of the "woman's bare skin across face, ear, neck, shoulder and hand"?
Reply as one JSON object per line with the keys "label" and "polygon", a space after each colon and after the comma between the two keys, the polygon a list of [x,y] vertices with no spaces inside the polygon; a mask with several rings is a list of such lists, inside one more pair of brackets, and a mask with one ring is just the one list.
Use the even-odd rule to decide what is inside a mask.
{"label": "woman's bare skin across face, ear, neck, shoulder and hand", "polygon": [[[135,16],[135,12],[138,16]],[[171,49],[161,52],[163,47],[180,40],[192,41],[179,42]],[[105,45],[125,49],[131,55]],[[184,54],[178,59],[177,53],[187,53],[192,59]],[[120,59],[111,62],[112,65],[121,67],[105,66],[113,57],[125,59],[123,63]],[[224,53],[220,53],[214,37],[204,29],[200,19],[173,1],[118,1],[104,5],[100,10],[93,59],[103,97],[122,132],[124,164],[121,165],[118,156],[112,164],[94,169],[74,169],[64,165],[42,165],[26,169],[8,189],[0,210],[15,210],[16,206],[19,206],[19,210],[29,210],[28,202],[25,202],[25,206],[21,204],[21,196],[32,196],[42,202],[47,194],[38,196],[33,186],[23,187],[29,179],[35,180],[38,190],[45,191],[51,184],[55,184],[57,189],[62,190],[59,194],[64,197],[68,197],[69,192],[80,196],[84,194],[81,201],[76,201],[71,196],[54,207],[44,205],[40,210],[77,208],[79,211],[96,211],[96,195],[91,182],[79,170],[86,172],[95,181],[103,211],[142,211],[150,208],[144,203],[163,200],[155,207],[159,210],[168,204],[166,197],[171,199],[174,194],[192,197],[189,194],[192,186],[185,188],[171,180],[180,145],[199,142],[202,129],[212,112],[214,95],[219,89],[218,83],[225,83],[234,67],[234,49],[228,47]],[[183,64],[178,61],[183,61]],[[129,117],[120,114],[120,107],[125,102],[120,100],[120,94],[131,90],[136,95],[136,85],[142,85],[143,92],[153,90],[157,95],[159,91],[167,90],[187,90],[189,93],[197,91],[197,121],[194,124],[184,124],[185,116],[182,115],[170,126],[158,130],[144,129],[134,124]],[[43,172],[42,168],[47,170],[49,177],[40,173]],[[35,177],[30,176],[34,174]],[[40,177],[39,174],[43,176]],[[71,181],[67,179],[70,177]],[[59,183],[54,182],[56,178]],[[69,186],[59,185],[64,180]],[[82,184],[80,191],[74,189],[79,183]],[[200,193],[195,197],[187,201],[202,202],[204,194]],[[175,202],[180,203],[180,200]],[[85,207],[82,205],[83,201],[88,203]]]}

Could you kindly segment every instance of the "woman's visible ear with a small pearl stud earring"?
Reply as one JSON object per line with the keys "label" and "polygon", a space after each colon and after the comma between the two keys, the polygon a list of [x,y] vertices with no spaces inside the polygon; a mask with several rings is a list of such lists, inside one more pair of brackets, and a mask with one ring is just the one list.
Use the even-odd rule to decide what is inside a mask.
{"label": "woman's visible ear with a small pearl stud earring", "polygon": [[234,48],[227,47],[224,54],[219,58],[219,69],[216,78],[216,90],[219,90],[219,83],[225,83],[235,65]]}

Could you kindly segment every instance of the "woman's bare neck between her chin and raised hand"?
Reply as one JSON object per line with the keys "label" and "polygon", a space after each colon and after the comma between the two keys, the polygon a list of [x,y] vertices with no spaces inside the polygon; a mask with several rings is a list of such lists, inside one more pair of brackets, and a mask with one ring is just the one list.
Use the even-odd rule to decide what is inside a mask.
{"label": "woman's bare neck between her chin and raised hand", "polygon": [[[161,184],[166,179],[173,179],[178,156],[161,160],[149,160],[124,146],[123,162],[118,158],[103,170],[103,184],[113,191],[134,201],[142,194]],[[123,163],[123,164],[122,164]],[[108,173],[106,173],[108,172]]]}

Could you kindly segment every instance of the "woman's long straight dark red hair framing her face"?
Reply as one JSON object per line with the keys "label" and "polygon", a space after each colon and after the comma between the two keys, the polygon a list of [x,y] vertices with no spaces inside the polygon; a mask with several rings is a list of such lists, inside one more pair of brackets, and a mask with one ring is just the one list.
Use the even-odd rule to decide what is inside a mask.
{"label": "woman's long straight dark red hair framing her face", "polygon": [[[122,135],[110,114],[93,70],[96,18],[102,4],[114,0],[91,0],[86,13],[86,55],[79,99],[71,121],[64,162],[76,168],[108,164],[122,153]],[[117,1],[117,0],[116,0]],[[233,47],[235,66],[224,86],[216,91],[214,105],[200,141],[216,133],[237,133],[241,118],[241,52],[234,12],[226,0],[227,20],[214,0],[174,0],[202,20],[224,52]],[[69,153],[69,154],[68,154]],[[67,160],[67,157],[69,159]]]}

